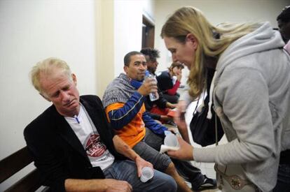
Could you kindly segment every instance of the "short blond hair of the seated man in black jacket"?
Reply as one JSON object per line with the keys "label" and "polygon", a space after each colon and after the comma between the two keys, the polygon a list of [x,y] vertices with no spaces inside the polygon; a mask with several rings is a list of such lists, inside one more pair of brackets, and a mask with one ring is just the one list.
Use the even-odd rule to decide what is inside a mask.
{"label": "short blond hair of the seated man in black jacket", "polygon": [[55,68],[67,75],[67,77],[69,77],[69,80],[72,80],[71,69],[65,61],[53,57],[44,59],[43,61],[39,61],[34,67],[32,67],[32,71],[30,72],[32,84],[34,88],[39,91],[39,93],[45,94],[43,92],[43,87],[41,87],[41,76],[53,75],[53,73],[55,73]]}

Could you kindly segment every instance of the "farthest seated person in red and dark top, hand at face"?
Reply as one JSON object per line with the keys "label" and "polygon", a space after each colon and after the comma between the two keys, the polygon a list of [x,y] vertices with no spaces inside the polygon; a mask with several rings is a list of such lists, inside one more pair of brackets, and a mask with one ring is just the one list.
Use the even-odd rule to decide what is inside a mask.
{"label": "farthest seated person in red and dark top, hand at face", "polygon": [[177,103],[179,100],[177,89],[181,82],[183,68],[184,65],[180,62],[173,62],[167,71],[156,73],[158,89],[162,91],[163,97],[170,103]]}

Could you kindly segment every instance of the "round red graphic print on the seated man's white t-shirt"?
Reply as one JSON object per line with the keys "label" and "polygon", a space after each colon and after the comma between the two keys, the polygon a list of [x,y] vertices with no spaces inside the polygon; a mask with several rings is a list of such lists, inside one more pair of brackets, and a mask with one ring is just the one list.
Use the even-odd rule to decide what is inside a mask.
{"label": "round red graphic print on the seated man's white t-shirt", "polygon": [[90,135],[87,144],[85,145],[85,151],[88,156],[98,157],[102,156],[106,151],[106,146],[102,144],[99,135]]}

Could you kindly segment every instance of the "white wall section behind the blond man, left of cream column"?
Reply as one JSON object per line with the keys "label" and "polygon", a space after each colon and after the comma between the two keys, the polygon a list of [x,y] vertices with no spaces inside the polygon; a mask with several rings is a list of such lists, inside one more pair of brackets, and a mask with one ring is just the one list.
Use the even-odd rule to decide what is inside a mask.
{"label": "white wall section behind the blond man, left of cream column", "polygon": [[37,61],[64,59],[78,77],[80,93],[96,94],[94,4],[0,1],[0,159],[25,146],[23,129],[50,105],[29,81]]}

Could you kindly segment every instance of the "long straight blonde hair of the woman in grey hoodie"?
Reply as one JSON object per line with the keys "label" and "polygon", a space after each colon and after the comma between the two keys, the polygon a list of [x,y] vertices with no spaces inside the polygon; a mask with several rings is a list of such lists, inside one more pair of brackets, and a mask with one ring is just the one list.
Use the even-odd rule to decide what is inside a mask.
{"label": "long straight blonde hair of the woman in grey hoodie", "polygon": [[198,98],[205,89],[205,58],[219,58],[221,53],[238,38],[249,34],[258,27],[257,23],[220,24],[214,27],[197,8],[186,6],[176,10],[161,30],[162,38],[174,38],[185,43],[186,35],[193,34],[198,41],[195,60],[188,75],[189,94]]}

